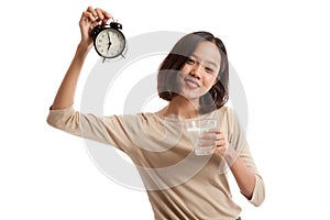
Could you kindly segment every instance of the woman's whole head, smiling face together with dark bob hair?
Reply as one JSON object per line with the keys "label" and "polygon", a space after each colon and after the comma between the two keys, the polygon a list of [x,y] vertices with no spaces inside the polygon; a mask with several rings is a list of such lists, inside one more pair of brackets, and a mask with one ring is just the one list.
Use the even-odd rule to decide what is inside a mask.
{"label": "woman's whole head, smiling face together with dark bob hair", "polygon": [[172,48],[157,73],[160,98],[193,101],[200,113],[221,108],[229,99],[229,62],[223,42],[210,32],[186,34]]}

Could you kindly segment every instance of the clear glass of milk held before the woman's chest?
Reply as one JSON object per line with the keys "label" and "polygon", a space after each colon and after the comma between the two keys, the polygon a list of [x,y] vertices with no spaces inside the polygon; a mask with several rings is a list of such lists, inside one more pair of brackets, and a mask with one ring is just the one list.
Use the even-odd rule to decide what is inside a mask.
{"label": "clear glass of milk held before the woman's chest", "polygon": [[202,140],[200,140],[199,136],[204,132],[217,128],[217,125],[218,123],[216,118],[199,118],[187,121],[186,129],[194,145],[194,152],[196,155],[201,156],[213,153],[216,145],[211,144],[208,146],[201,146],[200,144],[202,143]]}

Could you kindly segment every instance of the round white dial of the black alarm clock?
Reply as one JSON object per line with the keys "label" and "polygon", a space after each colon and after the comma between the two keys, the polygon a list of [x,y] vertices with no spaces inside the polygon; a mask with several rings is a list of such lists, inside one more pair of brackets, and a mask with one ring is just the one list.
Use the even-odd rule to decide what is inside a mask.
{"label": "round white dial of the black alarm clock", "polygon": [[105,29],[95,38],[98,54],[106,58],[113,58],[122,54],[125,47],[124,35],[114,29]]}

